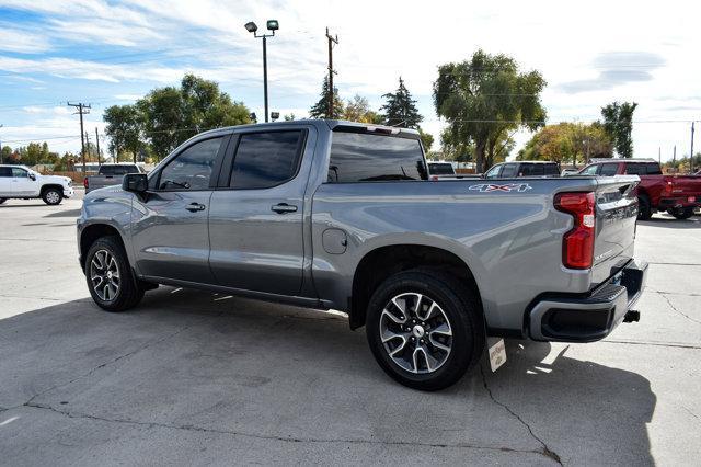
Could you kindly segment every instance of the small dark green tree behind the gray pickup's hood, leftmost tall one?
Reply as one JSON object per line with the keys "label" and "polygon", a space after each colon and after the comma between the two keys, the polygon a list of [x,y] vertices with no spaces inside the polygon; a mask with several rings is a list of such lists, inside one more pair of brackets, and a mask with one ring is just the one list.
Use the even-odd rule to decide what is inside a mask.
{"label": "small dark green tree behind the gray pickup's hood, leftmost tall one", "polygon": [[105,109],[103,119],[107,123],[105,134],[110,137],[110,152],[118,157],[130,152],[136,163],[136,155],[145,144],[141,140],[143,118],[136,105],[113,105]]}

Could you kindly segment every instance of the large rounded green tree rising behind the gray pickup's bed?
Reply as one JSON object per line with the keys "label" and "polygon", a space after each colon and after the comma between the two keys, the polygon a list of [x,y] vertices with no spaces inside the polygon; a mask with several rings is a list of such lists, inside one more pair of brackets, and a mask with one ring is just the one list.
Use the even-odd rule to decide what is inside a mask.
{"label": "large rounded green tree rising behind the gray pickup's bed", "polygon": [[470,60],[438,68],[434,83],[436,113],[446,118],[449,139],[474,144],[478,171],[497,157],[508,132],[536,130],[543,125],[545,110],[540,93],[545,80],[538,71],[519,72],[506,55],[478,50]]}

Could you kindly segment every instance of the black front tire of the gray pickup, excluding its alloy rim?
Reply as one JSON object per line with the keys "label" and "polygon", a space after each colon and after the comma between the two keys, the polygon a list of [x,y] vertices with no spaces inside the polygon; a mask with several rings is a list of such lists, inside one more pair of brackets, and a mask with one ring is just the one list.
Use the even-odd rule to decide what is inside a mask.
{"label": "black front tire of the gray pickup, excluding its alloy rim", "polygon": [[[114,258],[114,267],[118,273],[118,285],[116,292],[112,296],[110,296],[110,294],[112,294],[113,291],[110,287],[107,287],[110,293],[106,294],[104,288],[99,286],[100,284],[104,284],[105,281],[97,282],[99,280],[94,280],[93,282],[92,278],[93,261],[95,262],[95,266],[103,262],[103,259],[105,258],[104,252],[106,252],[111,258]],[[99,255],[99,258],[96,258],[96,255]],[[104,271],[104,269],[101,270],[100,267],[95,267],[95,272],[100,273],[100,271]],[[114,277],[111,276],[110,281],[113,280]],[[88,254],[85,255],[85,281],[92,299],[100,308],[106,311],[128,310],[129,308],[135,307],[141,298],[143,298],[145,289],[131,273],[127,253],[124,251],[122,242],[114,236],[97,239],[88,250]],[[99,292],[101,289],[102,292]]]}

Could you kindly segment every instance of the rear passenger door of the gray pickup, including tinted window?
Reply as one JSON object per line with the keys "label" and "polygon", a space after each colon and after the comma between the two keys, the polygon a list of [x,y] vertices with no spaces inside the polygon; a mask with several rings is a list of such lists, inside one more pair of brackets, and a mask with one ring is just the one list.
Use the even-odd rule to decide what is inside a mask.
{"label": "rear passenger door of the gray pickup, including tinted window", "polygon": [[[299,139],[292,153],[295,132]],[[219,284],[272,294],[300,292],[308,180],[308,166],[301,160],[307,159],[307,139],[299,129],[240,136],[230,189],[217,190],[211,197],[209,264]]]}

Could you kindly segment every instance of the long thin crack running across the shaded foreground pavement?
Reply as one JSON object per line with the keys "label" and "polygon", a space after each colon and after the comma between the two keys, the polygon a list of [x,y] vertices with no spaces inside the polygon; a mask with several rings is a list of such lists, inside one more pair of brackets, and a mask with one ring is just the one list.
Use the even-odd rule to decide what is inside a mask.
{"label": "long thin crack running across the shaded foreground pavement", "polygon": [[[423,442],[409,442],[409,441],[375,441],[375,440],[358,440],[358,438],[314,438],[314,437],[294,437],[294,436],[279,436],[279,435],[266,435],[266,434],[255,434],[255,433],[246,433],[239,432],[234,430],[222,430],[222,429],[214,429],[214,428],[205,428],[205,426],[196,426],[196,425],[179,425],[171,423],[162,423],[162,422],[145,422],[138,420],[127,420],[127,419],[113,419],[106,417],[97,417],[91,415],[89,413],[81,412],[70,412],[65,410],[59,410],[51,406],[45,406],[39,403],[25,403],[25,407],[30,407],[33,409],[42,409],[42,410],[50,410],[51,412],[59,413],[61,415],[68,417],[70,419],[80,419],[80,420],[95,420],[107,423],[117,423],[117,424],[128,424],[136,426],[147,426],[147,428],[161,428],[168,430],[183,430],[189,432],[200,432],[200,433],[215,433],[215,434],[223,434],[229,436],[242,436],[250,437],[255,440],[268,440],[268,441],[279,441],[284,443],[308,443],[308,444],[333,444],[333,443],[345,443],[345,444],[368,444],[368,445],[383,445],[383,446],[420,446],[420,447],[438,447],[438,448],[464,448],[464,449],[481,449],[481,451],[495,451],[502,453],[521,453],[521,454],[535,454],[542,456],[543,452],[538,449],[517,449],[514,447],[507,446],[480,446],[476,444],[468,444],[468,443],[457,443],[457,444],[443,444],[443,443],[423,443]],[[554,458],[552,456],[548,456],[554,460],[559,462],[559,458]]]}

